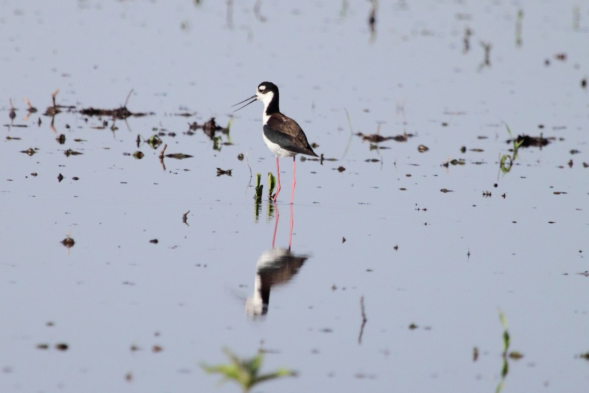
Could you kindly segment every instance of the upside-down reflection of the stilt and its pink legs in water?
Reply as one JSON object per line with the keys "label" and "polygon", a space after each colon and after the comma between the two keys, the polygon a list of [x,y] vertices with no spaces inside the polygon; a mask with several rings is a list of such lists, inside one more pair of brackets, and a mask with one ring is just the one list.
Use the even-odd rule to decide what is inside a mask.
{"label": "upside-down reflection of the stilt and its pink legs in water", "polygon": [[289,282],[309,258],[307,255],[294,254],[290,249],[293,234],[293,205],[290,205],[289,247],[274,247],[279,212],[277,205],[274,202],[270,203],[274,205],[274,217],[276,219],[274,234],[272,235],[272,248],[264,251],[256,263],[254,292],[246,300],[246,314],[250,318],[266,315],[270,302],[270,289],[275,285]]}

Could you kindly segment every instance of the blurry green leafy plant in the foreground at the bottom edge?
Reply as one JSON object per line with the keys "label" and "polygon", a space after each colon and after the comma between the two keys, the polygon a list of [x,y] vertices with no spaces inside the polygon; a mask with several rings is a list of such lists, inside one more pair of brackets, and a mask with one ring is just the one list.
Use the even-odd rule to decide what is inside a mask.
{"label": "blurry green leafy plant in the foreground at the bottom edge", "polygon": [[262,366],[263,353],[258,352],[256,356],[251,359],[240,359],[229,349],[223,349],[223,352],[229,358],[228,364],[219,364],[216,366],[210,366],[204,363],[200,364],[200,367],[208,373],[217,373],[223,375],[220,383],[227,380],[236,381],[241,386],[241,390],[246,393],[249,392],[254,385],[262,382],[270,381],[272,379],[282,377],[295,377],[296,372],[286,369],[279,368],[269,374],[259,374],[260,367]]}

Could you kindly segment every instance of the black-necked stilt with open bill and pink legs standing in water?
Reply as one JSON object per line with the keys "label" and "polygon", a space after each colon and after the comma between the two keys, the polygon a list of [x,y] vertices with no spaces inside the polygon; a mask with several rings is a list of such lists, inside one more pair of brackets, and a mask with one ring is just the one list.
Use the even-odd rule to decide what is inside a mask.
{"label": "black-necked stilt with open bill and pink legs standing in water", "polygon": [[[294,184],[295,181],[295,162],[294,156],[297,154],[306,154],[317,157],[309,142],[305,136],[305,132],[300,128],[300,125],[296,121],[284,116],[280,113],[278,108],[278,87],[272,82],[262,82],[256,89],[256,94],[250,98],[244,99],[241,102],[233,105],[243,104],[248,100],[246,105],[240,106],[235,111],[252,104],[256,100],[260,100],[264,103],[264,112],[262,117],[263,122],[263,133],[264,142],[266,146],[276,155],[276,172],[278,174],[278,187],[276,188],[276,194],[274,194],[274,201],[280,192],[280,169],[278,165],[279,157],[292,157],[293,158],[293,186],[290,193],[290,204],[293,203],[294,196]],[[235,112],[234,111],[234,112]]]}

